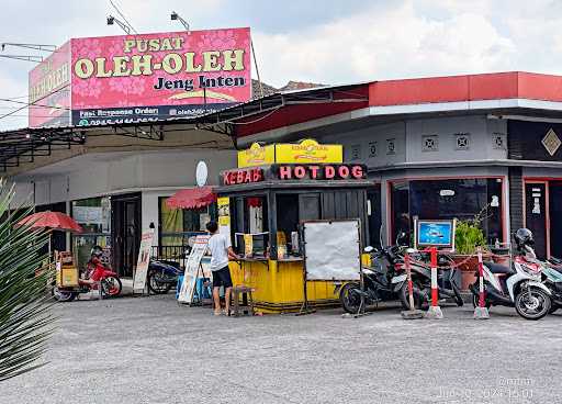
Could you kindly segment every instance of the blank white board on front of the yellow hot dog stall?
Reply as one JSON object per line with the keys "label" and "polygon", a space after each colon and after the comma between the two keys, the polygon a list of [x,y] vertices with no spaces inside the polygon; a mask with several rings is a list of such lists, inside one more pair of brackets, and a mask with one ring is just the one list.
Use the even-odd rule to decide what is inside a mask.
{"label": "blank white board on front of the yellow hot dog stall", "polygon": [[303,223],[307,280],[359,280],[361,244],[358,220]]}

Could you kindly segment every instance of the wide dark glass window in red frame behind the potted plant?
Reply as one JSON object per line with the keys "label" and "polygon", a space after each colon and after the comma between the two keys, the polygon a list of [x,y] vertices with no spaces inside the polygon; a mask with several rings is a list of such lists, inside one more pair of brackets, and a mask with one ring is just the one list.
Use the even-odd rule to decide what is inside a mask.
{"label": "wide dark glass window in red frame behind the potted plant", "polygon": [[[503,242],[502,179],[468,178],[395,182],[392,192],[392,237],[411,235],[415,218],[482,218],[488,244]],[[411,237],[412,238],[412,237]]]}

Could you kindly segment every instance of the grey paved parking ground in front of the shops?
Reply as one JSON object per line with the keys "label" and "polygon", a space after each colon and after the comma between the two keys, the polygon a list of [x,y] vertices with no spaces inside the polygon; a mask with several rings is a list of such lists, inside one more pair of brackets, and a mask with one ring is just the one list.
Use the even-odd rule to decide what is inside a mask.
{"label": "grey paved parking ground in front of the shops", "polygon": [[58,304],[46,367],[0,403],[559,403],[562,315],[445,307],[363,318],[213,317],[165,298]]}

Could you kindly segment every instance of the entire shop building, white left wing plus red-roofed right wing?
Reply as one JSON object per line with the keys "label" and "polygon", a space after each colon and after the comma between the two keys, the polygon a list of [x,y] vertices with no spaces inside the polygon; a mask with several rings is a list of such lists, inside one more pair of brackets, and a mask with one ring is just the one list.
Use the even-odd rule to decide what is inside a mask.
{"label": "entire shop building, white left wing plus red-roofed right wing", "polygon": [[[78,217],[88,233],[60,243],[82,254],[111,246],[123,276],[151,223],[160,246],[202,228],[210,211],[165,203],[196,186],[199,161],[218,186],[236,149],[303,138],[342,144],[344,160],[366,167],[369,244],[380,233],[392,243],[415,217],[480,213],[490,244],[527,226],[540,256],[562,256],[561,86],[562,77],[527,72],[373,81],[280,91],[198,117],[11,131],[4,141],[23,152],[0,158],[0,169],[18,184],[14,207],[29,198]],[[32,144],[47,136],[48,153]]]}

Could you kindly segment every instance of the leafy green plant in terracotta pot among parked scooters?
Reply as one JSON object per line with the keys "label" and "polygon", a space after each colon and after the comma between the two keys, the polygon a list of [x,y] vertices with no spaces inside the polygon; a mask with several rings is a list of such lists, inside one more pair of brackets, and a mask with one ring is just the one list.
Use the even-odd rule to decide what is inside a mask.
{"label": "leafy green plant in terracotta pot among parked scooters", "polygon": [[[457,229],[454,232],[456,254],[452,256],[452,259],[456,263],[460,265],[461,290],[468,290],[469,285],[475,281],[474,273],[479,266],[476,257],[477,247],[484,249],[486,246],[486,238],[481,228],[482,215],[486,207],[473,218],[457,222]],[[484,252],[484,255],[488,254]]]}

